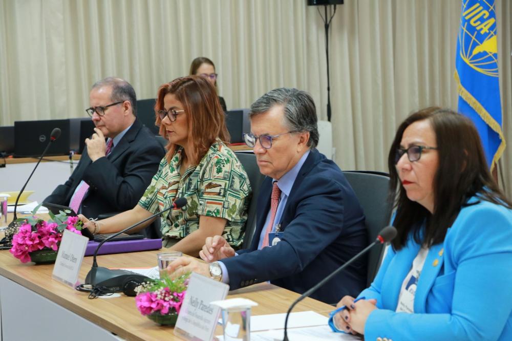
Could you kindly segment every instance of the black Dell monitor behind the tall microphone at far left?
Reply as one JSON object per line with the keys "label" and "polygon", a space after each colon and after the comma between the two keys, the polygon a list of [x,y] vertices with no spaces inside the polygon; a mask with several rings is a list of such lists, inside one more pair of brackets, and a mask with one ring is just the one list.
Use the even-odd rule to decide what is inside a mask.
{"label": "black Dell monitor behind the tall microphone at far left", "polygon": [[64,119],[15,121],[14,156],[40,156],[50,142],[50,134],[54,128],[60,129],[60,136],[52,143],[46,155],[68,155],[70,151],[70,121]]}

